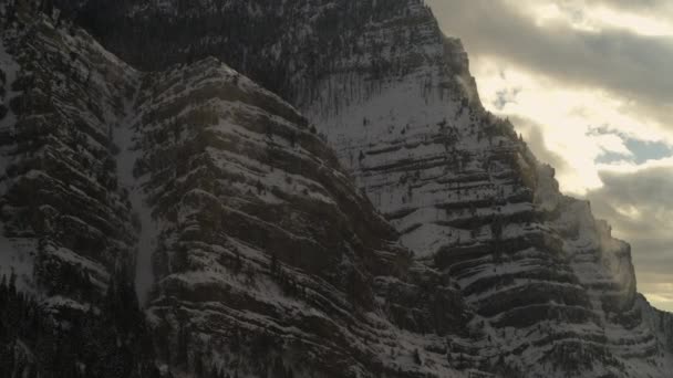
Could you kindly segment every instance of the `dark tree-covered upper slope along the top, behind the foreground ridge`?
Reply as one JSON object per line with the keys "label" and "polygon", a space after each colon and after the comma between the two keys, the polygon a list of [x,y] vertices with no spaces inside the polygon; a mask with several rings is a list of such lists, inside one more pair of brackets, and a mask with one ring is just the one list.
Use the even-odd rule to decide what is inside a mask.
{"label": "dark tree-covered upper slope along the top, behind the foreground ridge", "polygon": [[[402,74],[428,54],[442,57],[426,51],[436,48],[426,42],[444,40],[421,0],[54,3],[135,66],[163,70],[217,56],[302,109],[323,96],[317,83],[331,73],[343,72],[344,78],[354,73],[371,78]],[[394,35],[382,29],[392,29]],[[353,85],[348,83],[334,85]],[[323,99],[341,105],[338,97]]]}

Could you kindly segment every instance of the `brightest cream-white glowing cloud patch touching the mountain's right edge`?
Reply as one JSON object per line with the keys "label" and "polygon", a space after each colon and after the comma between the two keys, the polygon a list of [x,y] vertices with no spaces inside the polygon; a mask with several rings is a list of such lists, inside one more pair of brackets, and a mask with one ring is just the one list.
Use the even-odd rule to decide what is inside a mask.
{"label": "brightest cream-white glowing cloud patch touching the mountain's right edge", "polygon": [[[568,88],[543,75],[493,60],[473,61],[480,97],[495,114],[509,117],[542,161],[557,168],[561,188],[574,195],[602,186],[597,161],[641,161],[646,146],[670,150],[665,134],[620,111],[602,91]],[[634,153],[639,155],[635,156]]]}

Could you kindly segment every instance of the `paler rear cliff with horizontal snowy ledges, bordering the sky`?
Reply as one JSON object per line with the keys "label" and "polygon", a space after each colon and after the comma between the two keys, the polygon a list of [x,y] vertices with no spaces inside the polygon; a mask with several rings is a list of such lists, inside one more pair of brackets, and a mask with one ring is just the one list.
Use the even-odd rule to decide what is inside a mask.
{"label": "paler rear cliff with horizontal snowy ledges, bordering the sky", "polygon": [[362,36],[376,41],[365,51],[410,63],[382,78],[355,65],[329,73],[311,118],[402,242],[457,280],[519,375],[665,376],[671,360],[634,303],[629,245],[559,193],[553,170],[480,106],[459,43],[410,9],[426,15],[420,44],[400,46],[394,20]]}

